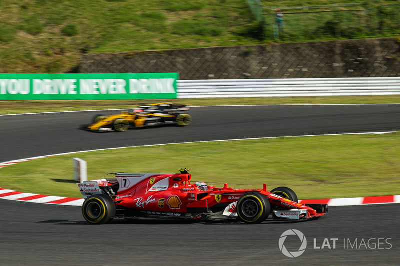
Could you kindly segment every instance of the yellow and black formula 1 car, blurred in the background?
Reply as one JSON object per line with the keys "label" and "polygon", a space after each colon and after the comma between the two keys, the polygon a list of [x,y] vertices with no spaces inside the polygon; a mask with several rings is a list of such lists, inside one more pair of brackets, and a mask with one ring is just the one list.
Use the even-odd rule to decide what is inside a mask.
{"label": "yellow and black formula 1 car, blurred in the background", "polygon": [[131,111],[121,111],[120,114],[96,115],[93,123],[84,125],[83,128],[98,132],[122,132],[134,127],[168,123],[188,126],[191,122],[191,116],[187,114],[189,109],[186,105],[172,102],[142,104]]}

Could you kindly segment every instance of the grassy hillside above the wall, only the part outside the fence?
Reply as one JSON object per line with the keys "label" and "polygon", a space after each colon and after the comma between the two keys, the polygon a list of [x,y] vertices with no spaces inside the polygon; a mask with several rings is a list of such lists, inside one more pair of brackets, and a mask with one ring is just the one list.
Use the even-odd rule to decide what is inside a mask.
{"label": "grassy hillside above the wall, only the part outside the fence", "polygon": [[[383,3],[396,1],[374,1]],[[73,72],[83,53],[276,41],[260,37],[245,0],[0,0],[0,9],[1,73]]]}

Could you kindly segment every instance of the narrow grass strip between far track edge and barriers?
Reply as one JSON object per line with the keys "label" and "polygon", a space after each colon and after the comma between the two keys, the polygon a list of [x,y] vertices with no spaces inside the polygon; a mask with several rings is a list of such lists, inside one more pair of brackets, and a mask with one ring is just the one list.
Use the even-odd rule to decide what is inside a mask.
{"label": "narrow grass strip between far track edge and barriers", "polygon": [[132,108],[140,103],[173,101],[189,106],[242,104],[400,103],[400,95],[331,97],[254,97],[151,100],[0,101],[0,114]]}

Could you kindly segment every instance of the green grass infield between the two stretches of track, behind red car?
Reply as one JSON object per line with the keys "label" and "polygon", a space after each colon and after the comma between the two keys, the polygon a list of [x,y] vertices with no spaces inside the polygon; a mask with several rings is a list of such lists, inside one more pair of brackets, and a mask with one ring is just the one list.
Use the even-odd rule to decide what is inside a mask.
{"label": "green grass infield between the two stretches of track, behind red car", "polygon": [[[22,162],[0,169],[0,187],[77,197],[72,157],[87,161],[88,179],[113,172],[174,173],[232,188],[292,188],[300,199],[400,194],[400,132],[288,137],[135,147]],[[54,166],[57,167],[54,167]]]}

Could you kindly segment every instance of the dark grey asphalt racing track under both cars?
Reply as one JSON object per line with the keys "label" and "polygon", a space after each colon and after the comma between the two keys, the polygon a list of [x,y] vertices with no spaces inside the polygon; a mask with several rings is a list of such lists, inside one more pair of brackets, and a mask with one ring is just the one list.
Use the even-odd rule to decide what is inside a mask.
{"label": "dark grey asphalt racing track under both cars", "polygon": [[[0,116],[0,162],[167,142],[400,128],[400,105],[306,105],[192,108],[193,122],[183,128],[77,129],[95,113]],[[0,210],[0,265],[398,265],[400,259],[399,204],[331,207],[316,221],[259,225],[114,220],[92,226],[76,206],[0,200]],[[288,229],[306,237],[298,258],[279,251],[279,237]],[[289,236],[284,246],[297,251],[300,241]]]}

